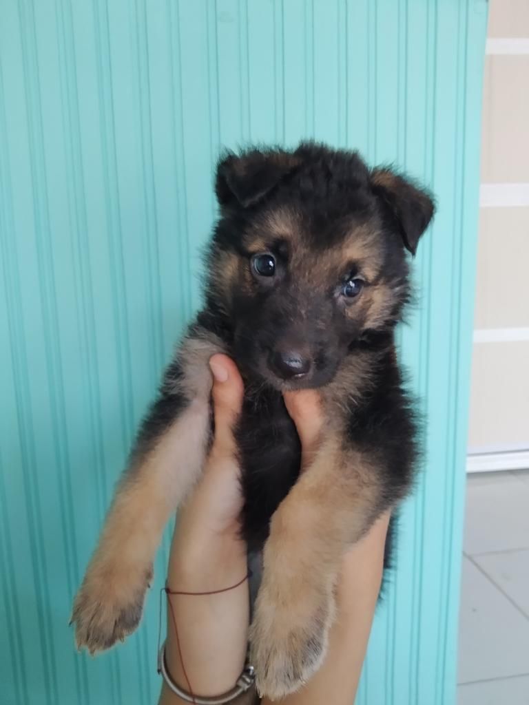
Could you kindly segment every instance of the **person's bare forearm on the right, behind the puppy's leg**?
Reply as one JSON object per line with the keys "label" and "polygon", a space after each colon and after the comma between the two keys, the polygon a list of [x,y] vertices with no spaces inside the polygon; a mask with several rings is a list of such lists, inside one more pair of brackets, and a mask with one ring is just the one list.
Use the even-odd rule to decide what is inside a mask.
{"label": "person's bare forearm on the right, behind the puppy's leg", "polygon": [[[281,705],[353,702],[382,582],[389,516],[381,517],[343,558],[336,596],[338,613],[325,661],[310,682],[283,699]],[[265,698],[262,705],[272,705],[272,701]]]}

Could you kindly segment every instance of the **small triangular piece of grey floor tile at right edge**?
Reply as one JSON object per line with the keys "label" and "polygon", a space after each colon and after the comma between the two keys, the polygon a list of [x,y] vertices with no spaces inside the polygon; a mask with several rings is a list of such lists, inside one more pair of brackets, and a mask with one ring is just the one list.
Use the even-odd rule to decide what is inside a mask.
{"label": "small triangular piece of grey floor tile at right edge", "polygon": [[529,548],[487,553],[474,560],[529,618]]}

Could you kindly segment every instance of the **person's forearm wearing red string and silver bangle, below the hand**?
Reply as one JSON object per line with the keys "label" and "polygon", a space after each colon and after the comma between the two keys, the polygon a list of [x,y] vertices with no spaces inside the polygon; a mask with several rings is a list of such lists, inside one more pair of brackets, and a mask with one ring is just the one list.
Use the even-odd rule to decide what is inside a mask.
{"label": "person's forearm wearing red string and silver bangle, below the hand", "polygon": [[[185,527],[182,527],[185,532]],[[238,583],[247,572],[245,545],[236,533],[214,539],[200,556],[190,556],[178,536],[171,547],[167,583],[173,591],[203,592]],[[248,581],[212,595],[171,595],[167,609],[166,666],[178,685],[195,694],[219,695],[235,685],[248,641]],[[174,620],[178,628],[178,642]],[[182,663],[183,659],[183,663]],[[183,664],[185,666],[185,673]],[[164,685],[160,705],[182,703]]]}

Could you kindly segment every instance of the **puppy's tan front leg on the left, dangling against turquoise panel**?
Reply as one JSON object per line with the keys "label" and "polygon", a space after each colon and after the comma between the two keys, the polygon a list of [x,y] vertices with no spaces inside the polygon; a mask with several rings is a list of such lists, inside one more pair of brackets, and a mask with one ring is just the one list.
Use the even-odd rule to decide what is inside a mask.
{"label": "puppy's tan front leg on the left, dangling against turquoise panel", "polygon": [[140,622],[164,527],[200,476],[210,434],[208,361],[221,341],[195,330],[164,376],[73,603],[78,648],[108,649]]}

